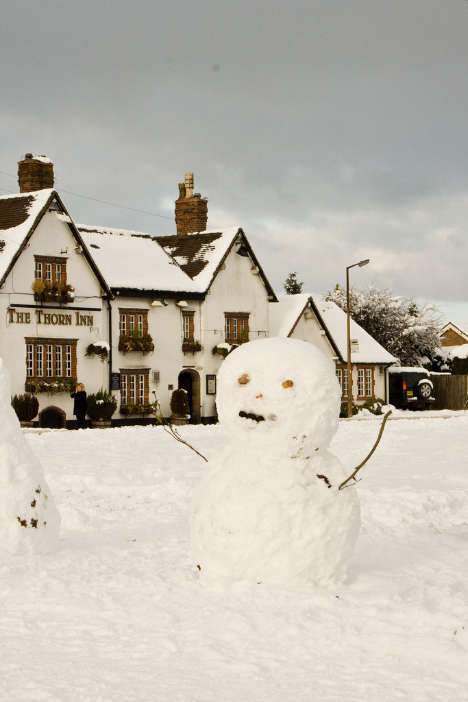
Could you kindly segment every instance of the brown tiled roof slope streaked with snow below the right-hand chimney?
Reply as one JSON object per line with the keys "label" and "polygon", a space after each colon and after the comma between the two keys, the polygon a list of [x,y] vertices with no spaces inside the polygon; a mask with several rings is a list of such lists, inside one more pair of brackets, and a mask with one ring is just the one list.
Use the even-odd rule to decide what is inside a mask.
{"label": "brown tiled roof slope streaked with snow below the right-hand chimney", "polygon": [[210,260],[210,253],[215,251],[215,241],[222,237],[222,232],[203,234],[179,234],[173,237],[156,237],[161,244],[177,261],[183,271],[192,279],[196,278]]}

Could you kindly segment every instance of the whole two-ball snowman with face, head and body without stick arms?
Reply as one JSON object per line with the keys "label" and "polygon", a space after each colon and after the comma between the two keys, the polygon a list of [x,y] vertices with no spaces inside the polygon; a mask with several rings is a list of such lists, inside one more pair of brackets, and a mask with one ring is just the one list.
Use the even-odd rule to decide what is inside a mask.
{"label": "whole two-ball snowman with face, head and body without stick arms", "polygon": [[194,495],[191,545],[201,578],[327,587],[345,578],[359,499],[327,451],[340,387],[314,345],[265,338],[241,345],[218,373],[229,435]]}

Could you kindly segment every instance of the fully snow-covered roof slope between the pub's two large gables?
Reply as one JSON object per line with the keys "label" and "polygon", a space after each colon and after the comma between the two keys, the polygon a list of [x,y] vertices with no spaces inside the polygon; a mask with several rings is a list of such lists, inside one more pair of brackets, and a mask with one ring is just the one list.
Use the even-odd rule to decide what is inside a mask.
{"label": "fully snow-covered roof slope between the pub's two large gables", "polygon": [[149,234],[81,224],[77,227],[110,288],[199,293],[199,286]]}

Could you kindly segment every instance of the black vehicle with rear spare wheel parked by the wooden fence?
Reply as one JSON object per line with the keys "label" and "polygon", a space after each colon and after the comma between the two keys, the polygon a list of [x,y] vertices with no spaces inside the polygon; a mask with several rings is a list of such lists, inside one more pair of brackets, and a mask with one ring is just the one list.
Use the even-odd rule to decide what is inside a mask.
{"label": "black vehicle with rear spare wheel parked by the wooden fence", "polygon": [[397,409],[428,409],[436,401],[429,371],[389,368],[389,400]]}

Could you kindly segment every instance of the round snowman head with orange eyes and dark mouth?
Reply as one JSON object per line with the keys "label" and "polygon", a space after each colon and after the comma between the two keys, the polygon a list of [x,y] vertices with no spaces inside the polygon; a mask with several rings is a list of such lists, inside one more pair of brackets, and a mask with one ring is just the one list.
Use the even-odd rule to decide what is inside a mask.
{"label": "round snowman head with orange eyes and dark mouth", "polygon": [[239,346],[218,373],[220,422],[239,447],[309,458],[337,430],[340,385],[306,341],[266,338]]}

